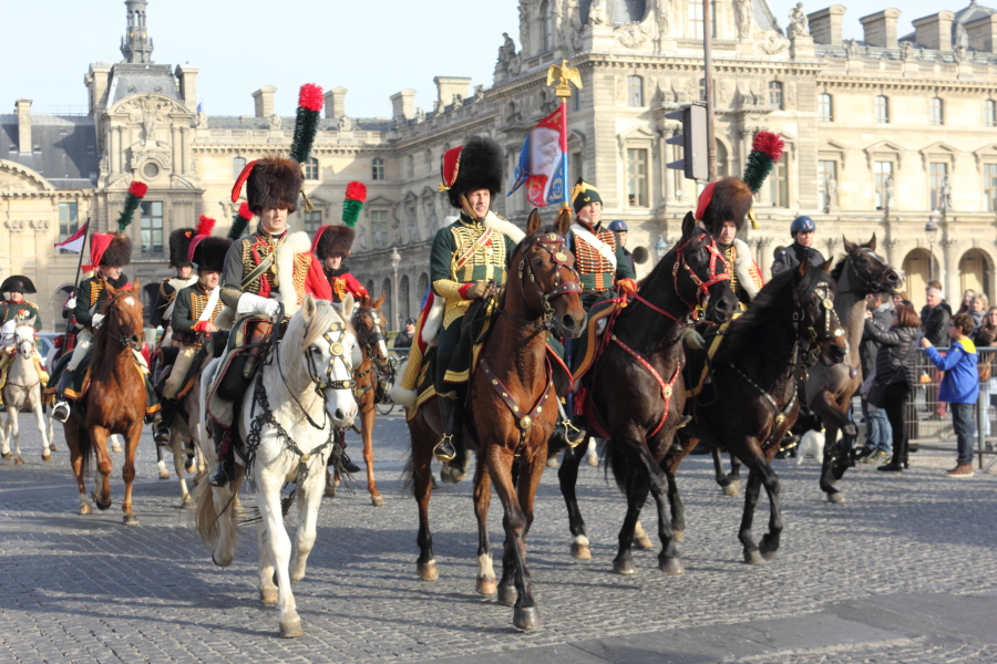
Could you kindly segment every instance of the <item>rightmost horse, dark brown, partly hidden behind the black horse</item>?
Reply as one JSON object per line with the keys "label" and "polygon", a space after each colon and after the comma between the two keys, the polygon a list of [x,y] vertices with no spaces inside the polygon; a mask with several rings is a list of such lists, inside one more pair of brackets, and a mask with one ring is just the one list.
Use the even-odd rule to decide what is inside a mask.
{"label": "rightmost horse, dark brown, partly hidden behind the black horse", "polygon": [[[876,253],[875,234],[864,245],[850,242],[844,237],[842,239],[846,253],[831,270],[831,277],[837,282],[834,311],[845,330],[847,356],[841,364],[814,366],[801,382],[802,398],[824,425],[820,487],[826,494],[828,501],[834,504],[845,501],[844,494],[834,485],[844,476],[845,470],[854,466],[853,455],[859,430],[849,417],[849,406],[862,384],[859,343],[865,325],[865,297],[870,293],[888,294],[903,286],[903,278]],[[844,434],[842,445],[837,444],[839,432]],[[713,454],[717,483],[721,487],[734,487],[726,489],[726,494],[737,494],[739,465],[731,457],[731,473],[723,475],[716,449]]]}

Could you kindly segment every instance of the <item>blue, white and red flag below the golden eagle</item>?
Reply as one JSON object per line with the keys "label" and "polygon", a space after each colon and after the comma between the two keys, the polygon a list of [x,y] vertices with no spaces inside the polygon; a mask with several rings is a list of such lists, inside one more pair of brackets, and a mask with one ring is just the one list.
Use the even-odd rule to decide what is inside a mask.
{"label": "blue, white and red flag below the golden eagle", "polygon": [[526,185],[526,200],[536,207],[565,199],[564,174],[567,170],[565,136],[562,136],[565,113],[564,105],[545,117],[526,134],[520,162],[516,164],[512,190],[506,196]]}

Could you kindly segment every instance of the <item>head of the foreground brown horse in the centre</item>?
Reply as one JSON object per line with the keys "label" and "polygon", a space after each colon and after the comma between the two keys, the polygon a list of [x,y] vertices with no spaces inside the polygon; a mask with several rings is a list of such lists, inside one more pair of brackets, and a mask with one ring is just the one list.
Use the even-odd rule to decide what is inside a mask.
{"label": "head of the foreground brown horse in the centre", "polygon": [[526,237],[513,257],[517,266],[523,300],[531,310],[543,313],[553,332],[577,339],[585,329],[582,283],[572,267],[574,255],[567,248],[572,227],[571,211],[561,210],[554,226],[541,228],[539,212],[530,212]]}

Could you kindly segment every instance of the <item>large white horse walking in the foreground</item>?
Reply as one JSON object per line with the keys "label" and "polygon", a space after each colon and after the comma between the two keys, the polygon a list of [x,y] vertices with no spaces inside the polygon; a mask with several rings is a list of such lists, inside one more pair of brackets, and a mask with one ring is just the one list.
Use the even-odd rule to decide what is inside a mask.
{"label": "large white horse walking in the foreground", "polygon": [[[244,447],[253,445],[254,429],[259,440],[249,468],[249,485],[260,515],[257,525],[259,594],[265,604],[278,604],[284,637],[304,634],[290,584],[305,577],[305,564],[315,544],[333,434],[336,429],[351,426],[357,415],[351,388],[350,359],[358,345],[349,322],[352,313],[351,297],[347,297],[340,314],[329,302],[316,302],[307,295],[276,352],[261,360],[239,408],[237,424],[246,442]],[[205,370],[205,384],[209,382],[208,372],[217,363],[213,361]],[[201,390],[202,414],[207,405],[207,391],[206,385]],[[202,452],[212,466],[216,458],[209,447],[204,445]],[[212,560],[219,567],[227,567],[235,557],[237,525],[233,504],[245,473],[239,460],[236,478],[228,486],[216,488],[203,480],[194,490],[197,529],[212,551]],[[298,531],[291,560],[280,489],[286,481],[296,479]]]}

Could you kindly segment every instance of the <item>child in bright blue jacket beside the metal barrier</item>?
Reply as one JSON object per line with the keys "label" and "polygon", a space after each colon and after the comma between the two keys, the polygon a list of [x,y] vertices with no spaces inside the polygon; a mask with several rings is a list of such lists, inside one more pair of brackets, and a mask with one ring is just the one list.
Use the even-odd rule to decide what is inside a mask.
{"label": "child in bright blue jacket beside the metal barrier", "polygon": [[969,339],[972,333],[973,319],[968,314],[957,313],[948,323],[948,338],[953,343],[947,354],[939,354],[927,338],[921,340],[928,360],[945,372],[938,398],[949,405],[952,428],[958,443],[958,461],[945,474],[946,477],[973,477],[973,404],[979,398],[979,374],[976,345]]}

